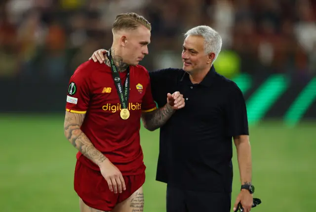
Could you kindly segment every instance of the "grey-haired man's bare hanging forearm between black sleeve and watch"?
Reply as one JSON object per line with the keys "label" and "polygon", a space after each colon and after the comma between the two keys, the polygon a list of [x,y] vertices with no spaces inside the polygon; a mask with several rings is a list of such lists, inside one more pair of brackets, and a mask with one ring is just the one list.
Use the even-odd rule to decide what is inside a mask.
{"label": "grey-haired man's bare hanging forearm between black sleeve and watch", "polygon": [[252,179],[251,147],[248,135],[234,136],[241,184],[250,184]]}

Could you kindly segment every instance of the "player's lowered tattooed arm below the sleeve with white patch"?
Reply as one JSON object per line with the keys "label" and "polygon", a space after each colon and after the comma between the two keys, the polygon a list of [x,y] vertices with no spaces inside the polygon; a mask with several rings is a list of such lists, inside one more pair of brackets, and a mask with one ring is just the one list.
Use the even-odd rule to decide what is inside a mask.
{"label": "player's lowered tattooed arm below the sleeve with white patch", "polygon": [[85,157],[99,166],[106,157],[93,146],[89,138],[81,131],[80,127],[84,116],[85,114],[66,112],[65,136]]}

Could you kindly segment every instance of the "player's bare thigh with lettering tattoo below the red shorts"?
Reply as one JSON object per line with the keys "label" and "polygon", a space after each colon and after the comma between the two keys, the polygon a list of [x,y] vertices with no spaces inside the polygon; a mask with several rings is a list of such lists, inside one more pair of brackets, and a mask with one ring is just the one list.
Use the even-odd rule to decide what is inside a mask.
{"label": "player's bare thigh with lettering tattoo below the red shorts", "polygon": [[144,193],[141,186],[130,197],[118,203],[112,212],[143,212],[143,209]]}

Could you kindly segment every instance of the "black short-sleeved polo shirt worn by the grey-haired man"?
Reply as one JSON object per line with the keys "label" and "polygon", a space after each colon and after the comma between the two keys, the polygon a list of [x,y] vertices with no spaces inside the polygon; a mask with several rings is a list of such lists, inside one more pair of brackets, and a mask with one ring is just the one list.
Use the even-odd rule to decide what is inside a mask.
{"label": "black short-sleeved polo shirt worn by the grey-haired man", "polygon": [[156,180],[187,190],[231,192],[234,135],[248,135],[245,101],[238,86],[210,69],[192,84],[183,69],[150,72],[154,100],[180,91],[186,101],[160,127]]}

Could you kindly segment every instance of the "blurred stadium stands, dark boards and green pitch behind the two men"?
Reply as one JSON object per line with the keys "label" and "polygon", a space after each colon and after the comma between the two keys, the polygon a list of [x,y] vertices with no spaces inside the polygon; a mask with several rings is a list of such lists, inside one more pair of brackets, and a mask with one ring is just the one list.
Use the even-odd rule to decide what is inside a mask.
{"label": "blurred stadium stands, dark boards and green pitch behind the two men", "polygon": [[[1,0],[0,211],[79,211],[76,151],[63,135],[68,80],[93,51],[111,46],[115,16],[130,11],[153,25],[142,61],[149,71],[182,67],[188,29],[220,32],[215,68],[239,85],[247,103],[254,197],[263,202],[253,211],[314,211],[315,0]],[[158,130],[142,128],[141,138],[144,211],[164,212],[165,185],[155,181]],[[234,164],[233,202],[236,154]]]}

